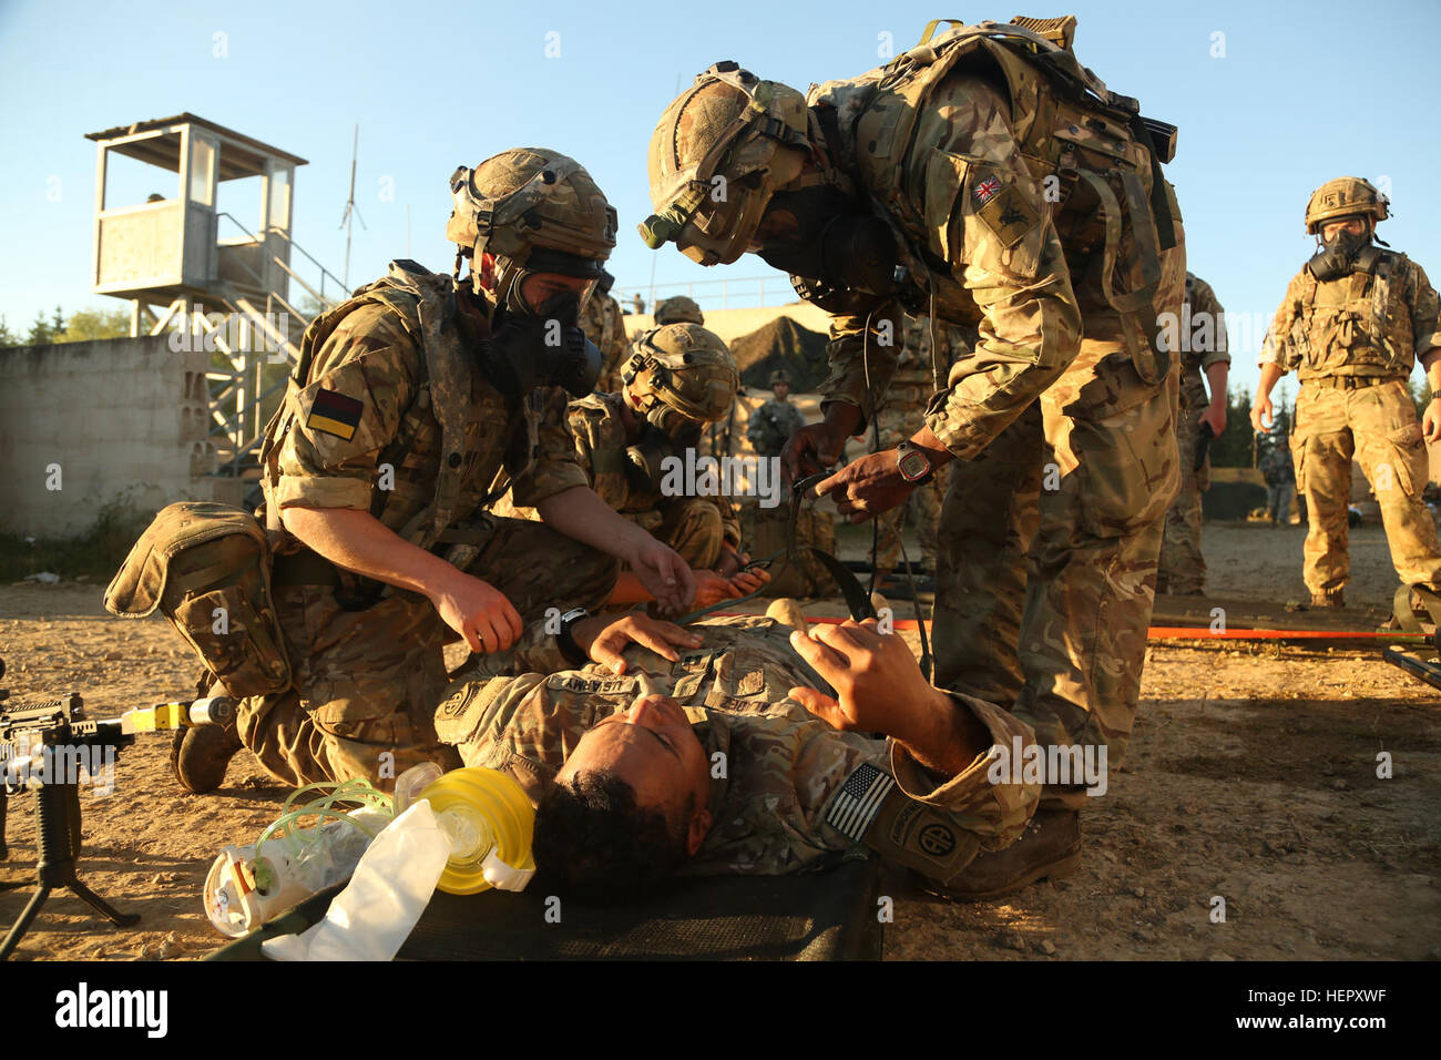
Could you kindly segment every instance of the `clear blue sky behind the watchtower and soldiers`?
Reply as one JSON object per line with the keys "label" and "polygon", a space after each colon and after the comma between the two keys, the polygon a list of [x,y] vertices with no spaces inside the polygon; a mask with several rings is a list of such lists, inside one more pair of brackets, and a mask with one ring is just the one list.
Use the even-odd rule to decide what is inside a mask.
{"label": "clear blue sky behind the watchtower and soldiers", "polygon": [[[957,7],[976,19],[1014,13]],[[1068,9],[1079,17],[1081,61],[1138,97],[1144,112],[1180,125],[1169,172],[1190,267],[1212,281],[1233,322],[1274,312],[1311,252],[1301,226],[1307,195],[1344,173],[1389,180],[1395,218],[1380,235],[1441,274],[1441,216],[1431,208],[1441,182],[1441,6]],[[406,208],[411,257],[450,268],[447,177],[460,163],[523,144],[579,159],[615,203],[621,239],[610,267],[620,287],[647,286],[653,268],[657,283],[758,275],[768,270],[751,257],[702,270],[673,248],[653,254],[635,235],[650,212],[646,149],[661,110],[718,59],[801,89],[855,76],[880,62],[882,35],[904,50],[944,10],[909,0],[0,0],[0,313],[23,333],[36,310],[55,304],[125,306],[88,287],[95,149],[84,134],[180,111],[310,160],[297,173],[294,235],[337,274],[360,124],[356,199],[367,228],[354,229],[353,286],[405,255]],[[1212,56],[1218,43],[1223,58]],[[559,55],[548,58],[556,45]],[[241,206],[242,216],[258,209],[222,205]],[[1257,369],[1252,350],[1239,348],[1244,337],[1232,330],[1233,374],[1249,387]]]}

